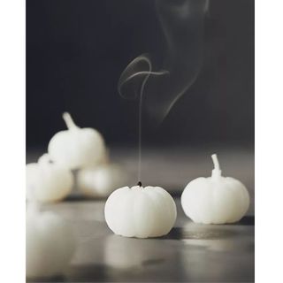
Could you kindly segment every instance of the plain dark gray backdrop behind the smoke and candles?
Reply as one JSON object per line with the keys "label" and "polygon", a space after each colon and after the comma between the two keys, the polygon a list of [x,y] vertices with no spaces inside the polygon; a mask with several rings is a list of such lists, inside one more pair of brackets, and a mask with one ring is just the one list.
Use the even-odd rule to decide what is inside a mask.
{"label": "plain dark gray backdrop behind the smoke and candles", "polygon": [[[253,149],[254,1],[211,0],[204,40],[195,84],[143,140]],[[27,149],[65,128],[63,111],[109,145],[135,145],[137,103],[120,98],[119,75],[164,44],[152,0],[27,0]]]}

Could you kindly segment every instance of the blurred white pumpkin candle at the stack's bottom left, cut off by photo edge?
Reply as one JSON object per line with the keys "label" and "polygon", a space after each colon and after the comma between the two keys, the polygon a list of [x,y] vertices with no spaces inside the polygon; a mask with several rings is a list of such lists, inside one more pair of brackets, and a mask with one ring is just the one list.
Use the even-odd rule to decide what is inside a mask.
{"label": "blurred white pumpkin candle at the stack's bottom left, cut off by photo edge", "polygon": [[56,202],[68,195],[73,187],[73,173],[64,166],[50,163],[44,154],[37,163],[27,164],[27,199]]}

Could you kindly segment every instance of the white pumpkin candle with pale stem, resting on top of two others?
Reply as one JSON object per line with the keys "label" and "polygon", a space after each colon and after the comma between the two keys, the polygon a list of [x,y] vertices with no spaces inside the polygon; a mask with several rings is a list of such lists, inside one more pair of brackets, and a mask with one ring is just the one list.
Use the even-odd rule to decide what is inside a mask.
{"label": "white pumpkin candle with pale stem, resting on top of two others", "polygon": [[80,128],[71,115],[63,114],[67,130],[55,134],[49,143],[50,158],[70,169],[96,166],[105,158],[103,136],[93,128]]}

